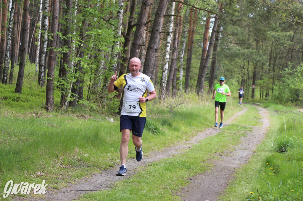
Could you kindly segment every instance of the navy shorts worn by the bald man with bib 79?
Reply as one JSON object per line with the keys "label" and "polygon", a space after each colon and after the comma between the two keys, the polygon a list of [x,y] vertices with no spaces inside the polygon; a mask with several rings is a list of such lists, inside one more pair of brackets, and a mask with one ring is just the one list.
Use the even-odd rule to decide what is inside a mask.
{"label": "navy shorts worn by the bald man with bib 79", "polygon": [[120,116],[120,131],[122,129],[130,129],[135,136],[142,137],[145,122],[146,117],[122,114]]}

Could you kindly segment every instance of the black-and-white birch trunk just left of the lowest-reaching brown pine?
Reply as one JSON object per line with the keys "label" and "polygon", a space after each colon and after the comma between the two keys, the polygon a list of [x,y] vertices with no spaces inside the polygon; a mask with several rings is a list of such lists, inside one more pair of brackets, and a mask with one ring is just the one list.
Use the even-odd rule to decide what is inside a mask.
{"label": "black-and-white birch trunk just left of the lowest-reaching brown pine", "polygon": [[44,1],[43,9],[43,26],[42,26],[42,46],[39,53],[39,72],[38,72],[38,85],[44,86],[44,68],[45,68],[45,54],[48,43],[48,5],[49,0]]}

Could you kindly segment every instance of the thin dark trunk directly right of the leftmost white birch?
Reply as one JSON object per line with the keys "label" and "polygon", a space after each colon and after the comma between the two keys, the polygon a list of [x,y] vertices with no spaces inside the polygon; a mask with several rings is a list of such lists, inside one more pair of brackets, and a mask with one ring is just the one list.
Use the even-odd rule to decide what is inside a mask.
{"label": "thin dark trunk directly right of the leftmost white birch", "polygon": [[14,23],[13,23],[13,30],[12,30],[12,59],[11,59],[11,70],[9,73],[9,81],[8,81],[8,84],[10,84],[10,85],[13,84],[14,67],[15,67],[15,60],[16,60],[17,17],[18,17],[18,3],[15,3]]}

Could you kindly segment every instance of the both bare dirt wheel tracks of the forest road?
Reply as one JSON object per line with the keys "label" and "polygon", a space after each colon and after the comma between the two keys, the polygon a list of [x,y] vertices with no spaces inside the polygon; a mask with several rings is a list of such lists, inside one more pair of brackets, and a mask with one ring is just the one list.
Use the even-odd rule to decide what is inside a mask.
{"label": "both bare dirt wheel tracks of the forest road", "polygon": [[[259,107],[258,107],[259,108]],[[235,113],[230,117],[224,126],[231,123],[232,120],[241,116],[245,113],[247,109],[243,107],[238,113]],[[228,182],[231,180],[231,175],[234,173],[236,168],[239,168],[241,164],[245,164],[249,156],[253,153],[255,146],[258,145],[263,136],[266,133],[266,128],[269,126],[269,120],[267,119],[268,112],[263,108],[259,108],[260,114],[262,116],[262,127],[253,127],[253,131],[248,133],[246,137],[243,137],[240,145],[236,147],[236,150],[228,153],[228,155],[221,156],[221,160],[212,161],[210,172],[197,175],[192,177],[191,184],[181,190],[178,195],[184,200],[215,200],[216,196],[220,194],[226,187]],[[221,129],[218,128],[208,128],[203,132],[199,132],[197,136],[193,137],[189,141],[179,142],[177,145],[166,148],[161,152],[151,152],[148,156],[143,157],[142,161],[137,162],[135,159],[128,159],[128,176],[135,174],[135,169],[140,168],[140,166],[145,166],[146,164],[152,163],[154,161],[160,160],[162,158],[172,157],[173,155],[180,154],[184,152],[187,148],[191,147],[192,144],[198,143],[201,139],[204,139],[211,135],[216,135]],[[22,198],[14,197],[14,200],[72,200],[77,199],[79,195],[84,193],[90,193],[93,191],[98,191],[101,189],[109,188],[113,182],[127,179],[128,176],[119,177],[116,176],[116,172],[119,169],[119,164],[115,168],[105,170],[100,174],[91,175],[92,178],[85,178],[79,180],[75,184],[68,184],[69,186],[61,190],[48,191],[45,194],[45,198]],[[207,182],[205,182],[207,181]],[[211,182],[209,182],[211,181]],[[203,194],[201,193],[203,192]]]}

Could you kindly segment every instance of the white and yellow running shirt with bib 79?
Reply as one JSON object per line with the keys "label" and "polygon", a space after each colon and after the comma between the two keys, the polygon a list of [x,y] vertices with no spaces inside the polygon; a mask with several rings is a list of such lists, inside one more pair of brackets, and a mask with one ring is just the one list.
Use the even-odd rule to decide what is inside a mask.
{"label": "white and yellow running shirt with bib 79", "polygon": [[143,73],[135,77],[128,73],[120,76],[114,85],[117,88],[123,87],[124,89],[121,114],[145,117],[146,102],[140,103],[139,96],[147,97],[147,92],[155,90],[151,78]]}

